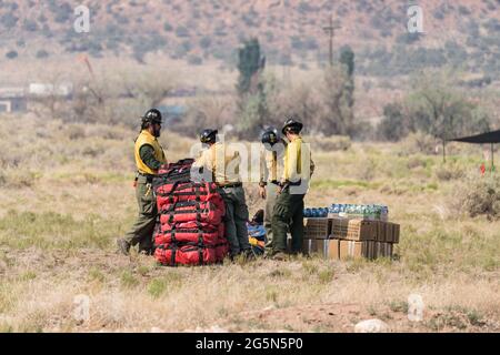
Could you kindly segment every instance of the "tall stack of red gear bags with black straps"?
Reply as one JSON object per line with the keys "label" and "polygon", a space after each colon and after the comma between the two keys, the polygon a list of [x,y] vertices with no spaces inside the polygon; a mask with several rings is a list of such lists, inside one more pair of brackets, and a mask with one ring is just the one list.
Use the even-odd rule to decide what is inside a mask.
{"label": "tall stack of red gear bags with black straps", "polygon": [[193,160],[170,163],[153,180],[159,219],[154,257],[163,265],[206,265],[229,253],[226,205],[214,183],[192,182]]}

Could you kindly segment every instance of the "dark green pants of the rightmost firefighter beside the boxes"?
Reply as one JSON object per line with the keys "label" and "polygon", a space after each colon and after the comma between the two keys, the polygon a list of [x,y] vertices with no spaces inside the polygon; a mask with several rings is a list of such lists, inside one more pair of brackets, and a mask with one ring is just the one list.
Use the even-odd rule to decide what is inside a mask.
{"label": "dark green pants of the rightmost firefighter beside the boxes", "polygon": [[278,195],[272,211],[272,252],[287,251],[287,232],[290,227],[292,236],[291,251],[299,253],[303,241],[303,196],[304,194],[290,194],[286,187]]}

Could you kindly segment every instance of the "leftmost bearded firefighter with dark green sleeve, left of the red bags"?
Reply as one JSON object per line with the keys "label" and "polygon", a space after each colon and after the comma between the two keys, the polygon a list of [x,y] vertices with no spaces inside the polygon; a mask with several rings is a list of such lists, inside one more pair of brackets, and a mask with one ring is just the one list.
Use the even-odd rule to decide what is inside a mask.
{"label": "leftmost bearded firefighter with dark green sleeve, left of the red bags", "polygon": [[153,230],[158,210],[152,191],[152,179],[158,173],[158,169],[167,163],[163,149],[158,142],[161,131],[160,111],[149,110],[141,121],[141,132],[134,145],[138,170],[134,186],[139,215],[124,237],[118,240],[119,251],[126,255],[136,244],[139,244],[140,253],[152,254],[153,252]]}

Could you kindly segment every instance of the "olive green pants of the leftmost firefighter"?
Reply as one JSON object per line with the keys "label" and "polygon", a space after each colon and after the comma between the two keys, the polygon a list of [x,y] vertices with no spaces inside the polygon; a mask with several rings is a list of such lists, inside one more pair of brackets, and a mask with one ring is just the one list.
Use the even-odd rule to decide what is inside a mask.
{"label": "olive green pants of the leftmost firefighter", "polygon": [[150,184],[146,182],[144,176],[139,176],[136,186],[136,197],[139,205],[139,215],[124,240],[130,245],[139,243],[139,252],[148,251],[153,246],[153,231],[158,215],[157,200]]}

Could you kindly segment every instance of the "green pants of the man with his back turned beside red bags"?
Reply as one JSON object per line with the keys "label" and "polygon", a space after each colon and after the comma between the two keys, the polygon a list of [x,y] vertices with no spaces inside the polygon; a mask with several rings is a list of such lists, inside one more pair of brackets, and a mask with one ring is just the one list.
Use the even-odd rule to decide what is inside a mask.
{"label": "green pants of the man with his back turned beside red bags", "polygon": [[226,237],[231,248],[231,255],[249,250],[248,242],[248,207],[244,201],[244,190],[239,187],[220,187],[219,192],[226,203]]}

